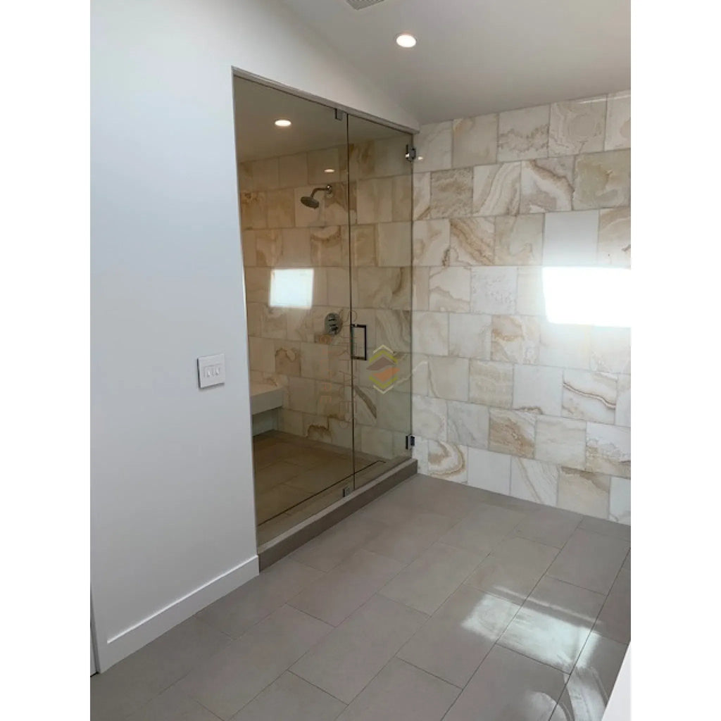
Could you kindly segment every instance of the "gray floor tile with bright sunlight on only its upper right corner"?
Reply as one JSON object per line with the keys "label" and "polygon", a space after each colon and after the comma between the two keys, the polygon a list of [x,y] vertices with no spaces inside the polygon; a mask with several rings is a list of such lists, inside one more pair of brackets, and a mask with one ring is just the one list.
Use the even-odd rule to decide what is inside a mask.
{"label": "gray floor tile with bright sunlight on only its upper right corner", "polygon": [[461,585],[397,655],[463,688],[520,608]]}

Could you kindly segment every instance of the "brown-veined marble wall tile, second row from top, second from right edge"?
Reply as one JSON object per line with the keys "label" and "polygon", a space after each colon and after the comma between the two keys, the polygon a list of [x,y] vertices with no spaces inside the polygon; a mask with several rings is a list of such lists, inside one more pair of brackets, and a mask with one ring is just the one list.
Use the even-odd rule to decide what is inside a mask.
{"label": "brown-veined marble wall tile, second row from top, second from right edge", "polygon": [[521,213],[570,211],[573,158],[539,158],[521,163]]}

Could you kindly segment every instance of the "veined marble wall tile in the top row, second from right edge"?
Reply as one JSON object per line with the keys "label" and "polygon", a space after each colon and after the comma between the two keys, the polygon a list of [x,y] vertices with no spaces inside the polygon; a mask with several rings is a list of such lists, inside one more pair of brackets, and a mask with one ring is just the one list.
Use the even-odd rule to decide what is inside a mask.
{"label": "veined marble wall tile in the top row, second from right edge", "polygon": [[554,102],[548,137],[549,155],[578,155],[603,150],[606,96]]}

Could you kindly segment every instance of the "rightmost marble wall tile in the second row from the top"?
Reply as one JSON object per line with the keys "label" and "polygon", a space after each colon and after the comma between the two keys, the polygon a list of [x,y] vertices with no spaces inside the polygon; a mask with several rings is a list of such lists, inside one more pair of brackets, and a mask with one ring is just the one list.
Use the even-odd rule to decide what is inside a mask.
{"label": "rightmost marble wall tile in the second row from the top", "polygon": [[576,157],[573,209],[631,204],[631,151],[609,150]]}

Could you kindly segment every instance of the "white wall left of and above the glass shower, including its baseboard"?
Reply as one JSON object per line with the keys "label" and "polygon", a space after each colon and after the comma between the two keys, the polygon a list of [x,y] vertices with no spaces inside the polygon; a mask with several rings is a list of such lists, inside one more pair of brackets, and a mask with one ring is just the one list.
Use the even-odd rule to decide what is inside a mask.
{"label": "white wall left of and above the glass shower, including its baseboard", "polygon": [[101,671],[257,573],[231,66],[416,125],[323,48],[275,0],[92,4]]}

